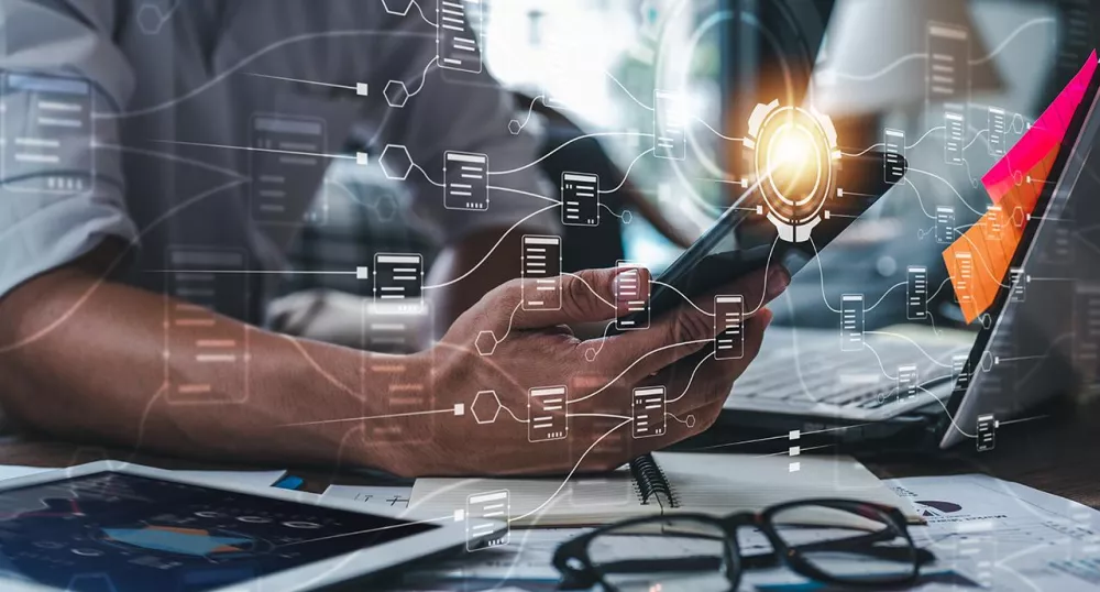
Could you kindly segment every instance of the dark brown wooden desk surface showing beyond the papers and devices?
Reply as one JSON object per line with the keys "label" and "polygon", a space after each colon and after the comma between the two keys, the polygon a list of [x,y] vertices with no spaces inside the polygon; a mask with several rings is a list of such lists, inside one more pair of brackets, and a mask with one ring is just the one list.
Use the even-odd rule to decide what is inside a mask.
{"label": "dark brown wooden desk surface showing beyond the papers and devices", "polygon": [[[979,453],[972,443],[964,443],[937,456],[861,460],[883,479],[987,473],[1100,508],[1097,451],[1100,451],[1100,402],[1079,407],[1067,406],[1043,419],[1002,426],[997,432],[997,448],[989,452]],[[3,464],[69,467],[103,459],[128,460],[164,469],[287,469],[194,462],[19,436],[0,438],[0,463]],[[290,469],[294,474],[305,478],[305,489],[315,493],[322,492],[331,483],[366,482],[362,474]]]}

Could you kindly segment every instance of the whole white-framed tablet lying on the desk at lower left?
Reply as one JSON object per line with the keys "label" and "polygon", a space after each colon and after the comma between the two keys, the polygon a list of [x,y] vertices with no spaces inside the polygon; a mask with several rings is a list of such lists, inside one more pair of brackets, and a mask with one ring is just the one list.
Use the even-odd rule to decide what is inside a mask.
{"label": "whole white-framed tablet lying on the desk at lower left", "polygon": [[464,548],[455,518],[95,462],[0,482],[0,590],[315,590]]}

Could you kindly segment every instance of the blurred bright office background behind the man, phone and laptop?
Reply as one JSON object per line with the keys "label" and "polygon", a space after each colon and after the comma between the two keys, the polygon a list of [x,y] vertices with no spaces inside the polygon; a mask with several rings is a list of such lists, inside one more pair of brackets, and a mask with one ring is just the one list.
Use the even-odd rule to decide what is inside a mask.
{"label": "blurred bright office background behind the man, phone and laptop", "polygon": [[[757,103],[812,106],[833,118],[842,151],[882,150],[904,135],[906,179],[811,265],[774,306],[779,322],[832,327],[854,286],[868,329],[905,321],[906,267],[946,278],[937,206],[958,227],[988,198],[981,176],[1084,64],[1100,8],[1089,0],[482,0],[485,63],[516,95],[513,125],[546,138],[547,177],[601,175],[607,209],[597,228],[564,229],[566,270],[628,259],[659,272],[743,191],[751,175],[743,140]],[[933,72],[935,28],[965,34],[964,67]],[[958,46],[956,46],[958,48]],[[686,102],[684,161],[652,157],[654,91]],[[961,150],[945,112],[964,116]],[[958,133],[953,130],[952,133]],[[582,135],[594,135],[578,141]],[[950,140],[950,141],[949,141]],[[562,150],[559,146],[568,145]],[[580,166],[580,168],[579,168]],[[629,172],[624,179],[625,172]],[[346,268],[375,252],[420,252],[432,241],[406,213],[399,184],[377,167],[333,166],[300,234],[298,268]],[[607,215],[610,211],[615,216]],[[353,277],[296,276],[284,294],[364,289]],[[363,294],[364,296],[366,294]],[[924,321],[960,326],[952,290]]]}

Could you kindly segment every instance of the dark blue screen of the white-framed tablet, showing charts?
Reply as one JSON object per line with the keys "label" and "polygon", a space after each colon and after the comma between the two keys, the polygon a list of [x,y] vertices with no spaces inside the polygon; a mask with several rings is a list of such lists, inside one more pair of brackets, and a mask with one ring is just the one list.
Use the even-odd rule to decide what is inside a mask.
{"label": "dark blue screen of the white-framed tablet, showing charts", "polygon": [[103,472],[0,492],[0,589],[204,592],[435,528]]}

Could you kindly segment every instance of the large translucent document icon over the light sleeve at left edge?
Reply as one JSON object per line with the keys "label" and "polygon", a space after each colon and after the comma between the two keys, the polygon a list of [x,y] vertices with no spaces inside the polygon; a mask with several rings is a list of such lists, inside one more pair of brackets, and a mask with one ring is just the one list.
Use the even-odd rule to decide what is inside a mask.
{"label": "large translucent document icon over the light sleeve at left edge", "polygon": [[6,74],[0,101],[0,178],[6,189],[50,194],[90,189],[95,134],[87,80]]}

